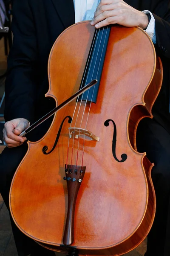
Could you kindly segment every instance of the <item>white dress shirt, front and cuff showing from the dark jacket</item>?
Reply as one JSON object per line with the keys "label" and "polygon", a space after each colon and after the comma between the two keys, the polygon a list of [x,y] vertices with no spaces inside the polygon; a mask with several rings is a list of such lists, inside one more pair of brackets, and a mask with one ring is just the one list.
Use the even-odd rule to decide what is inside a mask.
{"label": "white dress shirt, front and cuff showing from the dark jacket", "polygon": [[[92,20],[94,17],[94,12],[100,0],[73,0],[74,1],[74,10],[75,10],[75,22],[83,20]],[[143,11],[144,13],[150,13],[151,20],[147,29],[145,30],[154,44],[156,44],[156,33],[155,33],[155,19],[153,14],[147,10]]]}

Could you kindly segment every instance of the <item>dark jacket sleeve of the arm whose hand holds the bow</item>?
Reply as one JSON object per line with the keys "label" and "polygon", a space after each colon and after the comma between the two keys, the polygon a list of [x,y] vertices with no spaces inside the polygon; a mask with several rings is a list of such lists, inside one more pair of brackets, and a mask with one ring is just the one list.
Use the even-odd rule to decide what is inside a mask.
{"label": "dark jacket sleeve of the arm whose hand holds the bow", "polygon": [[14,39],[8,55],[4,117],[34,122],[37,40],[29,0],[14,0],[11,29]]}

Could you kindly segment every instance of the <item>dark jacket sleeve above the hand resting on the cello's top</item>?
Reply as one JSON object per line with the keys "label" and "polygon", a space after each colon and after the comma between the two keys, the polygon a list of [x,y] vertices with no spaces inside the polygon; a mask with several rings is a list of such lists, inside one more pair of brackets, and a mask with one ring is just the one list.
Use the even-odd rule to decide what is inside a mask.
{"label": "dark jacket sleeve above the hand resting on the cello's top", "polygon": [[170,58],[170,1],[162,0],[153,10],[156,48],[160,55]]}

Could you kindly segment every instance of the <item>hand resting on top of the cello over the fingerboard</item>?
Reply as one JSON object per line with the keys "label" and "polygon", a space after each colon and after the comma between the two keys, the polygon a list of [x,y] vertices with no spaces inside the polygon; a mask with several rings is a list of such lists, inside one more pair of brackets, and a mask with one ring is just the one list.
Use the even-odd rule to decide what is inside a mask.
{"label": "hand resting on top of the cello over the fingerboard", "polygon": [[98,29],[109,24],[119,24],[127,27],[139,26],[146,29],[149,20],[144,12],[140,12],[123,0],[101,0],[91,25]]}

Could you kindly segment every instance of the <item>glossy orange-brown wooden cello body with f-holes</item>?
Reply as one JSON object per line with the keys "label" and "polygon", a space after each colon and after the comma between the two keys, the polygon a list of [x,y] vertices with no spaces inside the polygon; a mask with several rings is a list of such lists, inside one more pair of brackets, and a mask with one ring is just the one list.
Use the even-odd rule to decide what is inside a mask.
{"label": "glossy orange-brown wooden cello body with f-holes", "polygon": [[[89,22],[77,23],[51,49],[46,96],[57,105],[79,90],[93,36]],[[145,239],[156,209],[153,164],[137,152],[136,129],[142,118],[152,118],[161,82],[161,61],[146,33],[112,26],[96,103],[73,101],[57,112],[47,134],[28,142],[14,175],[10,209],[24,234],[51,250],[66,253],[74,247],[79,255],[89,256],[122,255]],[[56,147],[43,154],[45,146],[47,152],[53,148],[62,122]],[[87,130],[84,137],[80,127]],[[123,162],[122,154],[127,155]],[[85,166],[70,245],[63,244],[67,164],[70,169],[78,166],[78,171]]]}

